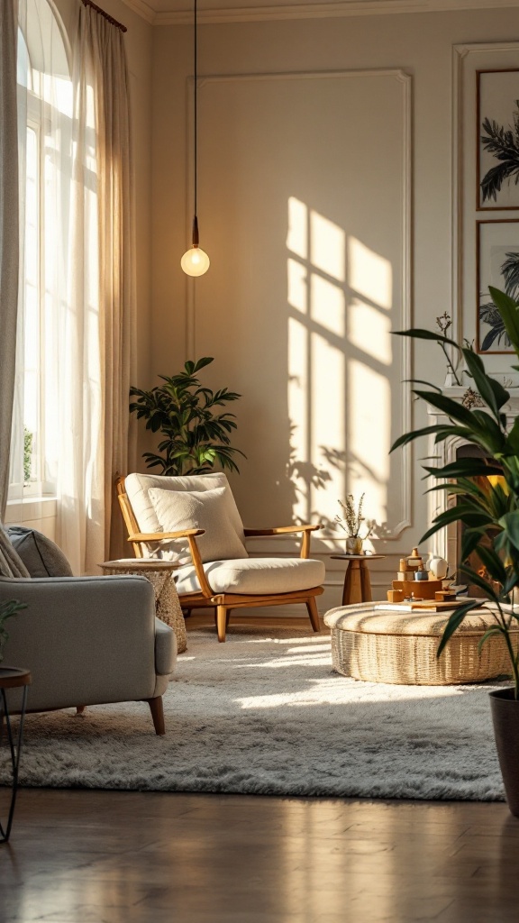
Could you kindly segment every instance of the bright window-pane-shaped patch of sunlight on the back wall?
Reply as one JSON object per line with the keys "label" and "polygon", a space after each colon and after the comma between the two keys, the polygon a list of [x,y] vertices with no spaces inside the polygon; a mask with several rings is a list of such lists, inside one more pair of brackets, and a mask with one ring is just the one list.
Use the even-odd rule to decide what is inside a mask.
{"label": "bright window-pane-shaped patch of sunlight on the back wall", "polygon": [[294,197],[286,246],[294,515],[333,526],[337,498],[366,493],[387,522],[391,263]]}

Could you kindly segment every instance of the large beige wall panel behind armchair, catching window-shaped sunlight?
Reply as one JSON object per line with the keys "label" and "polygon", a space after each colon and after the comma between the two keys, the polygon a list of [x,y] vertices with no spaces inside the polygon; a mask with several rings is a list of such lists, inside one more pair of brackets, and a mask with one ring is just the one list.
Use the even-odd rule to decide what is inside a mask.
{"label": "large beige wall panel behind armchair, catching window-shaped sunlight", "polygon": [[[235,408],[239,428],[234,441],[246,451],[248,462],[240,464],[242,473],[233,479],[233,490],[247,526],[264,523],[269,505],[271,525],[281,524],[281,518],[284,522],[294,518],[332,522],[339,509],[337,499],[344,497],[342,472],[354,469],[356,474],[347,477],[356,478],[357,486],[354,490],[352,482],[348,489],[356,495],[366,489],[367,507],[372,491],[364,487],[365,483],[372,484],[380,496],[384,490],[387,494],[390,515],[377,517],[380,550],[413,525],[412,448],[395,453],[398,459],[385,460],[390,442],[410,428],[412,417],[410,386],[403,384],[411,377],[411,344],[406,338],[389,336],[390,327],[409,327],[412,315],[411,97],[412,78],[398,68],[199,78],[200,246],[211,257],[211,269],[195,282],[186,279],[186,354],[189,358],[215,355],[211,387],[218,374],[223,377],[222,384],[245,396],[247,403],[240,402]],[[188,141],[193,127],[191,99],[192,81],[187,81]],[[387,122],[382,127],[378,124],[380,113],[373,119],[369,115],[376,105],[385,108],[382,118]],[[369,164],[364,167],[362,149],[374,148],[384,132],[387,178],[377,186],[375,169],[370,172]],[[188,150],[188,190],[193,180],[191,162],[192,151]],[[288,249],[287,235],[296,237],[297,233],[291,228],[287,207],[293,208],[294,215],[306,216],[307,225],[297,232],[308,236],[304,256],[296,253],[292,257]],[[187,201],[187,229],[191,217],[192,202]],[[235,228],[240,229],[237,240]],[[315,237],[316,229],[323,235],[321,242]],[[344,277],[343,269],[335,271],[326,265],[327,253],[341,235]],[[291,246],[297,249],[297,245]],[[235,263],[229,258],[229,248],[235,251]],[[362,279],[361,270],[355,269],[355,256],[359,265],[363,260],[366,263]],[[296,271],[296,282],[287,282],[287,264]],[[389,294],[371,290],[377,284],[383,288],[384,280]],[[294,298],[305,297],[303,290],[307,292],[307,307],[294,302]],[[387,304],[384,297],[389,299]],[[362,320],[363,311],[372,318],[374,328],[369,329]],[[297,372],[284,370],[286,323],[296,330],[305,329],[308,350],[313,350],[303,359],[299,347],[296,351],[292,347],[290,361]],[[362,330],[366,342],[359,341]],[[371,333],[373,342],[369,342]],[[304,351],[307,347],[303,341],[304,337]],[[387,343],[384,348],[388,354],[383,354],[382,342]],[[344,383],[336,378],[339,367],[344,368]],[[299,421],[300,433],[305,430],[300,438],[307,440],[307,448],[311,442],[310,455],[299,445],[299,455],[289,457],[293,409],[284,410],[280,405],[272,414],[271,408],[273,402],[283,399],[287,380],[307,374],[313,376],[309,396],[300,394],[296,400],[304,417]],[[362,381],[365,386],[359,383]],[[219,379],[216,384],[221,385]],[[357,397],[352,405],[354,393]],[[382,402],[388,402],[381,419],[388,434],[394,418],[391,439],[384,437],[386,442],[374,427],[377,414],[382,413],[378,395]],[[303,411],[301,402],[305,400]],[[346,400],[350,411],[341,423],[335,403],[338,408]],[[328,430],[320,418],[331,401],[333,426],[344,426],[344,434],[333,436],[330,430],[328,441]],[[364,417],[367,431],[376,441],[371,451],[361,449],[359,456]],[[343,440],[340,444],[339,438]],[[332,450],[322,464],[324,480],[319,485],[320,447],[326,449],[328,445]],[[293,485],[284,480],[287,465],[294,471]],[[383,474],[386,469],[387,475]],[[387,481],[390,471],[391,483],[384,486],[383,479]],[[250,491],[250,485],[259,478],[272,489],[272,498],[262,509]],[[311,495],[307,507],[298,495],[300,489]],[[290,491],[294,496],[288,496]],[[366,515],[369,518],[368,509]],[[321,545],[319,539],[314,542],[316,551],[319,549],[327,560],[334,545],[330,542],[332,549]],[[281,547],[278,541],[266,540],[254,553],[270,554]]]}

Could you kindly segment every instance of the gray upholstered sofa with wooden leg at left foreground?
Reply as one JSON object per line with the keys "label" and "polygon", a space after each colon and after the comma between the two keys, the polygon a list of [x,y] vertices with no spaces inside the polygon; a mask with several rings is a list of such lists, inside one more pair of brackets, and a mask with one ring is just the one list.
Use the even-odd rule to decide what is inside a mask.
{"label": "gray upholstered sofa with wooden leg at left foreground", "polygon": [[[0,603],[11,599],[27,608],[6,625],[3,665],[30,669],[29,711],[142,700],[156,733],[164,733],[162,696],[175,668],[176,640],[155,618],[149,581],[0,576]],[[10,707],[16,710],[20,701],[13,690]]]}

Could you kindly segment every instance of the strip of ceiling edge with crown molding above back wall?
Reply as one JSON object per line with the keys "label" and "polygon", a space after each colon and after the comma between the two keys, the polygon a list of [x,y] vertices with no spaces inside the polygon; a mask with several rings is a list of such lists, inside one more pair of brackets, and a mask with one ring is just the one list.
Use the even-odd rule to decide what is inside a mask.
{"label": "strip of ceiling edge with crown molding above back wall", "polygon": [[[155,26],[191,23],[191,0],[124,0]],[[519,0],[200,0],[199,22],[333,18],[519,6]]]}

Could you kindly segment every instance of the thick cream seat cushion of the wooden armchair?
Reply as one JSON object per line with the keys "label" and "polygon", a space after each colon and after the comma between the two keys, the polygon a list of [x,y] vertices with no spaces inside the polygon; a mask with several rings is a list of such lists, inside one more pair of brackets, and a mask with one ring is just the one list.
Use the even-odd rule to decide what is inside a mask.
{"label": "thick cream seat cushion of the wooden armchair", "polygon": [[[204,564],[211,590],[214,593],[296,593],[320,586],[325,569],[322,561],[301,557],[247,557],[235,560],[213,561]],[[199,592],[195,569],[177,571],[178,593]]]}

